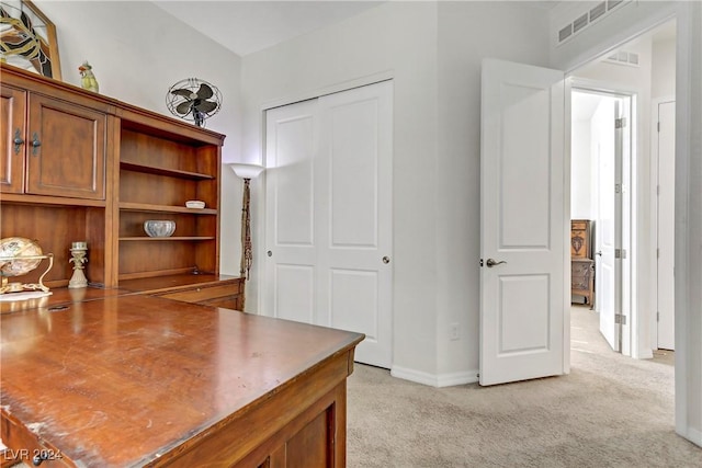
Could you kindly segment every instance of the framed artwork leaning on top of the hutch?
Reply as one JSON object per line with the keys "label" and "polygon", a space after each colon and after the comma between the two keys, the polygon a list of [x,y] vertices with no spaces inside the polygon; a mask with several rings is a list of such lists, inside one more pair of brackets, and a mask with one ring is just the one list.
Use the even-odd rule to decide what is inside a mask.
{"label": "framed artwork leaning on top of the hutch", "polygon": [[56,27],[31,1],[0,1],[0,60],[61,79]]}

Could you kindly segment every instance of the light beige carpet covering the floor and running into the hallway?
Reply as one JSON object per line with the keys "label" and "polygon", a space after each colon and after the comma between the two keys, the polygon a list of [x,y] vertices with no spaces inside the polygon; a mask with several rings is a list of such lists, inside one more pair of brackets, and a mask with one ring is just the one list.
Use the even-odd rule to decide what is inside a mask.
{"label": "light beige carpet covering the floor and running into the hallway", "polygon": [[348,387],[348,466],[702,467],[673,430],[672,353],[612,352],[586,307],[571,313],[571,372],[432,388],[356,364]]}

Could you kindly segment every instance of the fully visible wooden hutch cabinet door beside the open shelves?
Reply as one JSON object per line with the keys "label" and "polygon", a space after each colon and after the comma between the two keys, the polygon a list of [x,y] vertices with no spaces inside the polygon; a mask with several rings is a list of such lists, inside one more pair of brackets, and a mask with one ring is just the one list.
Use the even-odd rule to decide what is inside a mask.
{"label": "fully visible wooden hutch cabinet door beside the open shelves", "polygon": [[26,193],[104,199],[105,114],[30,94]]}

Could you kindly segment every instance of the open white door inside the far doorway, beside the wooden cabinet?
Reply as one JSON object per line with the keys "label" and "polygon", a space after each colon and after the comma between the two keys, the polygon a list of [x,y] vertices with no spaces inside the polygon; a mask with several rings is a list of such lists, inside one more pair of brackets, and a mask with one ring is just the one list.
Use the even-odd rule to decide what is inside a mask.
{"label": "open white door inside the far doorway, beside the wooden cabinet", "polygon": [[591,128],[592,149],[597,159],[598,204],[595,224],[596,310],[600,315],[600,333],[614,351],[620,351],[621,326],[616,323],[615,316],[620,310],[616,249],[621,236],[621,182],[618,182],[621,181],[621,175],[618,176],[618,172],[621,173],[621,169],[618,169],[621,168],[621,145],[618,145],[616,118],[616,100],[603,98],[592,115]]}

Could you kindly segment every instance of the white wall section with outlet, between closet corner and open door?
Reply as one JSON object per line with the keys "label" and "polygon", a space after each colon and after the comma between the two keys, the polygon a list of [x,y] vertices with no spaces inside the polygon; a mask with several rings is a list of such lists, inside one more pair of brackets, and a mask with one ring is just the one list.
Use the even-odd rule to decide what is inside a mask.
{"label": "white wall section with outlet, between closet corner and open door", "polygon": [[[476,379],[480,259],[480,62],[547,66],[547,14],[520,2],[439,2],[435,315],[440,385]],[[403,196],[401,193],[399,196]],[[452,323],[461,340],[451,341]]]}

